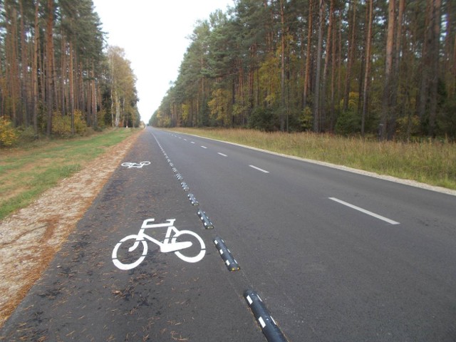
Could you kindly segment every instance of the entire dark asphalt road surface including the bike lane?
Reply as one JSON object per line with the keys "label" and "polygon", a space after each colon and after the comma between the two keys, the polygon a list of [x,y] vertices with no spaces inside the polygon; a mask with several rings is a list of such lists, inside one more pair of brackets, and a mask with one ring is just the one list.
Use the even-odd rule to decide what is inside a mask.
{"label": "entire dark asphalt road surface including the bike lane", "polygon": [[[265,341],[246,289],[289,341],[456,341],[455,196],[152,128],[126,159],[151,163],[119,165],[5,341]],[[115,266],[116,244],[152,218],[197,234],[204,257],[148,242],[138,266]],[[165,241],[166,228],[145,232]],[[182,254],[203,250],[187,238]],[[124,264],[142,244],[132,256],[127,243]]]}

